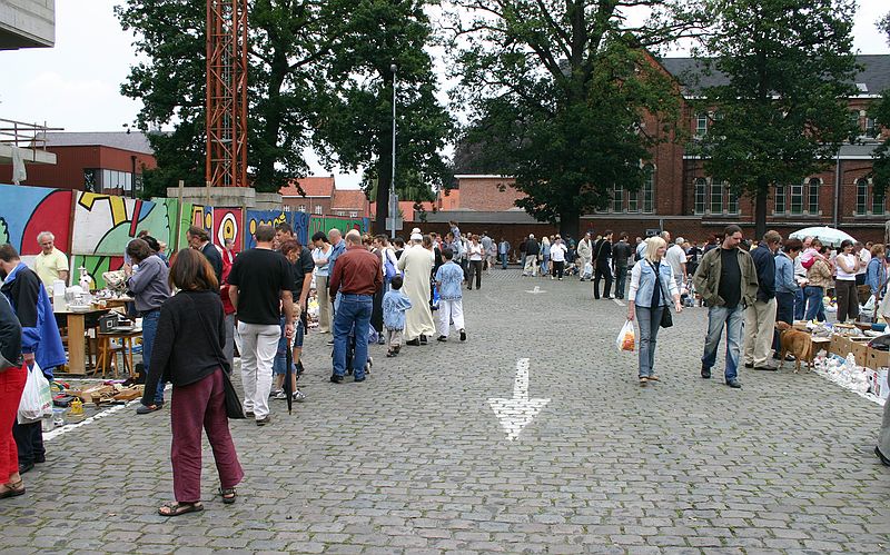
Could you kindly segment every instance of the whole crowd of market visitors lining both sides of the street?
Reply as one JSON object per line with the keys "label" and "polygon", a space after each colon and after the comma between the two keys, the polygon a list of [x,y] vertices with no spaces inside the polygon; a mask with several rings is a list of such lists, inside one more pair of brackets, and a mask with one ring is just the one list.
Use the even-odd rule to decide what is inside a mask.
{"label": "whole crowd of market visitors lining both sides of the street", "polygon": [[[407,241],[390,241],[330,229],[313,235],[312,245],[301,245],[287,224],[259,226],[255,247],[237,256],[228,242],[215,246],[200,227],[189,228],[186,237],[188,248],[168,260],[164,246],[142,232],[127,245],[122,268],[131,310],[142,325],[146,387],[137,414],[160,409],[165,385],[172,385],[175,502],[159,507],[164,516],[204,508],[201,430],[214,450],[218,494],[224,503],[236,501],[244,472],[226,405],[236,348],[241,409],[257,426],[271,422],[270,398],[305,400],[297,379],[313,284],[316,330],[332,335],[329,379],[343,384],[352,375],[352,381],[362,383],[372,367],[369,343],[386,345],[386,356],[397,357],[406,345],[421,347],[434,337],[448,341],[452,329],[467,340],[464,287],[481,289],[498,259],[506,268],[512,250],[508,241],[487,232],[463,235],[454,221],[445,236],[415,228]],[[14,422],[0,430],[0,498],[22,495],[21,475],[46,459],[41,423],[16,415],[31,367],[51,380],[53,368],[66,363],[48,289],[68,281],[68,262],[53,241],[52,234],[38,236],[34,270],[10,245],[0,247],[0,417]],[[702,245],[672,241],[664,231],[637,237],[631,246],[626,232],[615,240],[606,230],[595,238],[587,232],[577,242],[530,235],[518,250],[523,276],[563,280],[574,275],[593,283],[594,299],[623,299],[626,291],[627,319],[639,327],[641,386],[660,381],[654,353],[659,329],[672,325],[671,308],[680,314],[696,303],[708,307],[701,376],[711,377],[725,329],[724,381],[741,388],[740,365],[778,368],[777,321],[824,319],[830,289],[838,321],[850,321],[859,314],[857,286],[868,287],[872,306],[883,306],[890,277],[883,245],[843,241],[833,251],[818,239],[783,239],[775,231],[748,245],[738,226]],[[887,414],[876,450],[890,463]]]}

